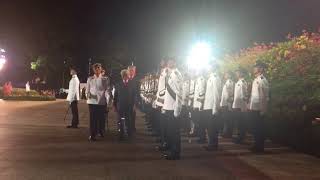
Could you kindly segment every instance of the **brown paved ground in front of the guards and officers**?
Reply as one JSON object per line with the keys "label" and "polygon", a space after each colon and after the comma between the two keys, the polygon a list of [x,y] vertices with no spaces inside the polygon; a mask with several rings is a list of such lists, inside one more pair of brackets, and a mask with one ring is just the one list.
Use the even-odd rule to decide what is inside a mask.
{"label": "brown paved ground in front of the guards and officers", "polygon": [[141,113],[134,142],[116,140],[112,113],[110,134],[90,143],[87,106],[80,103],[76,130],[65,128],[66,107],[63,101],[0,100],[0,180],[320,179],[319,159],[271,143],[266,155],[254,155],[221,139],[221,150],[208,153],[183,138],[182,160],[162,160],[145,135]]}

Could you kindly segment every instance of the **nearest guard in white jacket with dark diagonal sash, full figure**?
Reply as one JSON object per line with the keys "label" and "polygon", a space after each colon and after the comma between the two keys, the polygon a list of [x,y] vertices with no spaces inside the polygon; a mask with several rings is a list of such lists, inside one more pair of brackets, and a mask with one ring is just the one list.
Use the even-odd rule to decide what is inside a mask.
{"label": "nearest guard in white jacket with dark diagonal sash, full figure", "polygon": [[163,154],[167,160],[180,159],[181,137],[179,116],[182,109],[182,75],[176,68],[175,60],[168,61],[169,76],[166,81],[166,93],[163,110],[168,118],[167,143],[168,151]]}

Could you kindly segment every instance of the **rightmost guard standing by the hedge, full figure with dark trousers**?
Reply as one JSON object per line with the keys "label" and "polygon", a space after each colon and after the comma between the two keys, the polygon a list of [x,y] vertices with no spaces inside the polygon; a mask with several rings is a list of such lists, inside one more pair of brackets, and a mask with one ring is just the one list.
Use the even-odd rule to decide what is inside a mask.
{"label": "rightmost guard standing by the hedge, full figure with dark trousers", "polygon": [[254,145],[250,149],[253,152],[264,151],[264,115],[267,112],[269,102],[269,83],[264,77],[265,65],[257,62],[254,68],[255,79],[252,83],[249,110],[253,120]]}

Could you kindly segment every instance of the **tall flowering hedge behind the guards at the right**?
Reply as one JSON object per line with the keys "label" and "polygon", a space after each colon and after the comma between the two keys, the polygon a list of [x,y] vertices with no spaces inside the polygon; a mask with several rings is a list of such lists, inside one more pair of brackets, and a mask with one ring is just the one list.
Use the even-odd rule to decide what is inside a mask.
{"label": "tall flowering hedge behind the guards at the right", "polygon": [[[320,116],[320,33],[303,31],[297,37],[288,35],[285,42],[255,44],[225,56],[221,67],[227,71],[239,67],[247,70],[250,83],[254,78],[253,65],[258,60],[268,67],[265,73],[270,83],[268,136],[313,152],[310,148],[316,148],[320,140],[320,133],[316,132],[320,129],[312,126],[312,120]],[[320,147],[317,148],[320,155]]]}

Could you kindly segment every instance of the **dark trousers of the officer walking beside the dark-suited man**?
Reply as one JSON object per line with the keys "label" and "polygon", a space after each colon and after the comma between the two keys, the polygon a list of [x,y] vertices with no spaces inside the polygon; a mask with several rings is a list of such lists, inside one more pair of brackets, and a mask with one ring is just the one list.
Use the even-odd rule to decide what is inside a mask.
{"label": "dark trousers of the officer walking beside the dark-suited man", "polygon": [[104,105],[96,105],[89,104],[89,113],[90,113],[90,135],[95,137],[97,133],[100,132],[98,129],[99,124],[102,124],[105,121],[105,106]]}

